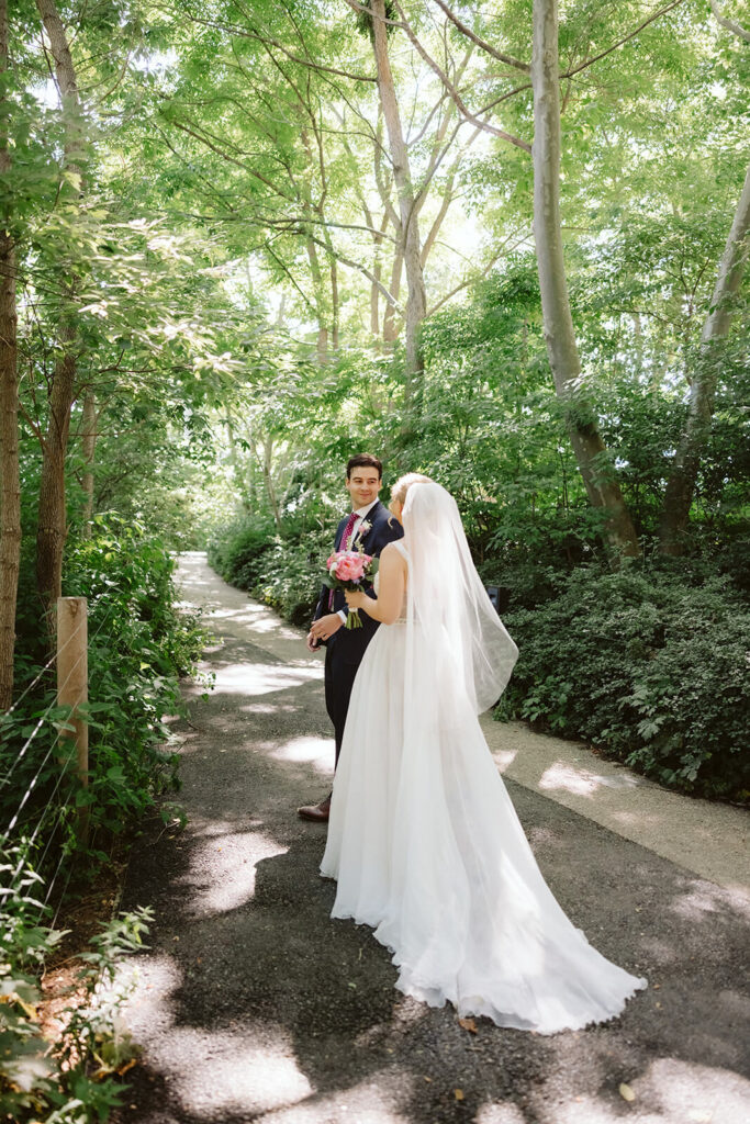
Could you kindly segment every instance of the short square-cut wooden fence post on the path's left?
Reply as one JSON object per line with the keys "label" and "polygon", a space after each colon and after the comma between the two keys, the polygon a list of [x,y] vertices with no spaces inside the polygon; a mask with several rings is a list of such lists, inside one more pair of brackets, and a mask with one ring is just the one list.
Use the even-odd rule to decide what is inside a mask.
{"label": "short square-cut wooden fence post on the path's left", "polygon": [[[89,701],[89,636],[85,597],[57,598],[57,704],[72,707],[69,723],[74,732],[61,737],[73,740],[81,785],[89,783],[89,725],[78,708]],[[79,833],[85,842],[89,813],[80,809]]]}

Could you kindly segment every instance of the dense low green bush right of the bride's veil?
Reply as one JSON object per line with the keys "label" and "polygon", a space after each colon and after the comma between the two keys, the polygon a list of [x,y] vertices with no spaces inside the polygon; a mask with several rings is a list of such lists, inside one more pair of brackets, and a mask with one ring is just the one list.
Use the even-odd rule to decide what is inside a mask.
{"label": "dense low green bush right of the bride's veil", "polygon": [[746,798],[750,613],[729,579],[632,564],[557,583],[505,616],[521,655],[497,716],[595,742],[669,787]]}

